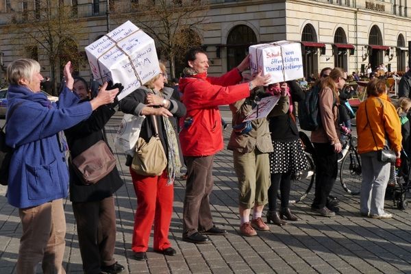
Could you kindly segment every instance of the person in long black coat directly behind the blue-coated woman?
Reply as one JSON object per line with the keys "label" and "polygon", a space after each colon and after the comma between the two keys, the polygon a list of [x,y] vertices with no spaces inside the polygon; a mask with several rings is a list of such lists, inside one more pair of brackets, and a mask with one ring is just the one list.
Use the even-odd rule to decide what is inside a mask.
{"label": "person in long black coat directly behind the blue-coated woman", "polygon": [[[73,92],[79,95],[80,102],[89,100],[90,92],[83,78],[75,77]],[[116,112],[114,106],[117,103],[115,99],[112,104],[101,105],[88,119],[64,131],[72,159],[99,140],[104,140],[102,129]],[[69,171],[70,200],[73,202],[84,273],[120,273],[124,267],[114,260],[116,213],[113,197],[113,193],[123,186],[119,171],[114,166],[99,182],[88,185],[75,173],[71,161]]]}

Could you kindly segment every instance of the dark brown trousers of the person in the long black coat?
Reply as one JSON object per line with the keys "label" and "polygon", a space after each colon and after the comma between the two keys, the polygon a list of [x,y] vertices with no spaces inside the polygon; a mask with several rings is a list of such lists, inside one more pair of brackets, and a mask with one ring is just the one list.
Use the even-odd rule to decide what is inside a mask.
{"label": "dark brown trousers of the person in the long black coat", "polygon": [[110,266],[116,244],[116,212],[114,198],[73,203],[84,273],[101,273],[101,266]]}

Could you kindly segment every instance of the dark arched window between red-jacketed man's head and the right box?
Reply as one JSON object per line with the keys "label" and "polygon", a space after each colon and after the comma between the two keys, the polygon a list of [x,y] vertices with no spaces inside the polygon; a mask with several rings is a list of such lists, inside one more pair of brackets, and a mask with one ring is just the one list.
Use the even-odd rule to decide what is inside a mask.
{"label": "dark arched window between red-jacketed man's head and the right box", "polygon": [[257,37],[253,29],[247,25],[237,25],[227,37],[227,71],[235,66],[247,56],[250,45],[256,44]]}

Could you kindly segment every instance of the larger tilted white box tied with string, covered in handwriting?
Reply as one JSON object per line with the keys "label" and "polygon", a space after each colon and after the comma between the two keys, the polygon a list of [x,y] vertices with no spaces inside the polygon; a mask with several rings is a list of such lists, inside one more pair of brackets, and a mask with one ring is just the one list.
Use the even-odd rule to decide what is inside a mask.
{"label": "larger tilted white box tied with string, covered in handwriting", "polygon": [[88,45],[86,54],[99,84],[123,84],[119,100],[161,72],[154,40],[130,21]]}

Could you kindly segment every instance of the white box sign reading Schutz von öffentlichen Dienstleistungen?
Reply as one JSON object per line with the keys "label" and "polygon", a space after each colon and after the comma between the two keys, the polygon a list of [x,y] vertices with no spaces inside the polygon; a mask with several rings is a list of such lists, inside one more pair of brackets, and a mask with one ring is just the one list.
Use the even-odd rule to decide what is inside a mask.
{"label": "white box sign reading Schutz von \u00f6ffentlichen Dienstleistungen", "polygon": [[251,73],[271,75],[270,84],[302,78],[301,45],[285,40],[249,47]]}

